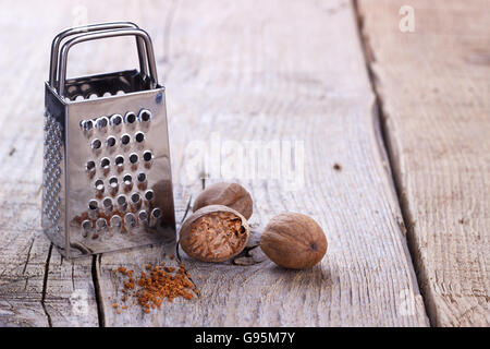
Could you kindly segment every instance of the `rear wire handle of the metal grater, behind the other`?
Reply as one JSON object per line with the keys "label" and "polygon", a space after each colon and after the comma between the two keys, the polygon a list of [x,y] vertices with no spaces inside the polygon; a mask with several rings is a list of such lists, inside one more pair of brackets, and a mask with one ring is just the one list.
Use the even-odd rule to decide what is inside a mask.
{"label": "rear wire handle of the metal grater, behind the other", "polygon": [[[112,23],[101,23],[101,24],[91,24],[85,26],[78,26],[74,28],[70,28],[58,34],[51,44],[51,60],[49,67],[49,85],[52,87],[57,87],[58,81],[58,57],[61,41],[72,35],[84,34],[88,32],[97,32],[97,31],[107,31],[107,29],[117,29],[117,28],[139,28],[136,24],[132,22],[112,22]],[[145,57],[145,43],[142,38],[136,38],[137,49],[138,49],[138,59],[139,59],[139,70],[143,74],[148,75],[148,69],[146,67],[146,57]]]}

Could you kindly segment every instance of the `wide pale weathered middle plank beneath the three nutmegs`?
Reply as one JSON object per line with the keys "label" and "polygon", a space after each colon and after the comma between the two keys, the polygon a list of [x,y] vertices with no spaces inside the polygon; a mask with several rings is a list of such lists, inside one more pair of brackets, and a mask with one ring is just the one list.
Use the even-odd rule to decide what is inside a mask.
{"label": "wide pale weathered middle plank beneath the three nutmegs", "polygon": [[284,172],[250,178],[248,166],[234,177],[255,198],[256,229],[279,212],[303,212],[330,244],[321,265],[304,272],[185,257],[201,297],[150,314],[137,306],[117,314],[112,269],[138,270],[161,260],[161,249],[103,255],[106,325],[427,325],[351,3],[180,1],[167,15],[159,10],[138,22],[154,36],[168,91],[177,201],[197,193],[198,152],[210,140],[237,142],[226,160],[240,159],[232,153],[246,142],[297,141],[305,156],[297,189],[287,190]]}

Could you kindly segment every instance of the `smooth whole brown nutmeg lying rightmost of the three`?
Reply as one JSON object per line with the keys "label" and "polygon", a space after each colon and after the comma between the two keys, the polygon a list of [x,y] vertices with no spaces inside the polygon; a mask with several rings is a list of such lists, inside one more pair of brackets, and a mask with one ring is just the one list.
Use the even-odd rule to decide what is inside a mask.
{"label": "smooth whole brown nutmeg lying rightmost of the three", "polygon": [[275,264],[292,268],[309,268],[327,252],[327,238],[310,217],[283,213],[273,217],[260,237],[260,248]]}

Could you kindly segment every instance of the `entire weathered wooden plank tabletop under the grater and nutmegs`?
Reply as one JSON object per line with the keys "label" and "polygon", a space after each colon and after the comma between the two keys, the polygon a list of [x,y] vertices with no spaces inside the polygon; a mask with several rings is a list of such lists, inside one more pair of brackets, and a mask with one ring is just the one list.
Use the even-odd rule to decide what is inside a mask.
{"label": "entire weathered wooden plank tabletop under the grater and nutmegs", "polygon": [[[399,26],[404,4],[415,11],[414,32]],[[1,7],[0,325],[489,325],[488,1]],[[159,261],[161,248],[61,257],[40,229],[42,83],[50,40],[84,20],[131,20],[154,39],[179,219],[211,177],[189,170],[189,144],[290,142],[304,151],[304,183],[285,188],[284,177],[254,178],[253,168],[237,181],[255,198],[254,239],[284,210],[322,226],[329,249],[320,265],[293,272],[261,258],[185,257],[199,299],[118,315],[111,270]],[[125,69],[132,48],[75,48],[69,74]]]}

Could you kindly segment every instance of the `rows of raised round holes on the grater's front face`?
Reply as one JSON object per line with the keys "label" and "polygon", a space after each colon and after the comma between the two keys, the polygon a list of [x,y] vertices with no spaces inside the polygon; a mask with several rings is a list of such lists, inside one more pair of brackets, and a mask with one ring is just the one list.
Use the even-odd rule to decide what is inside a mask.
{"label": "rows of raised round holes on the grater's front face", "polygon": [[142,109],[137,115],[125,112],[124,119],[114,113],[79,122],[91,151],[85,171],[94,186],[88,210],[74,221],[82,227],[85,239],[110,238],[113,233],[133,233],[135,228],[155,227],[148,217],[155,222],[158,220],[155,213],[161,208],[154,204],[155,192],[147,190],[147,172],[154,159],[151,149],[145,147],[150,121],[151,111]]}

